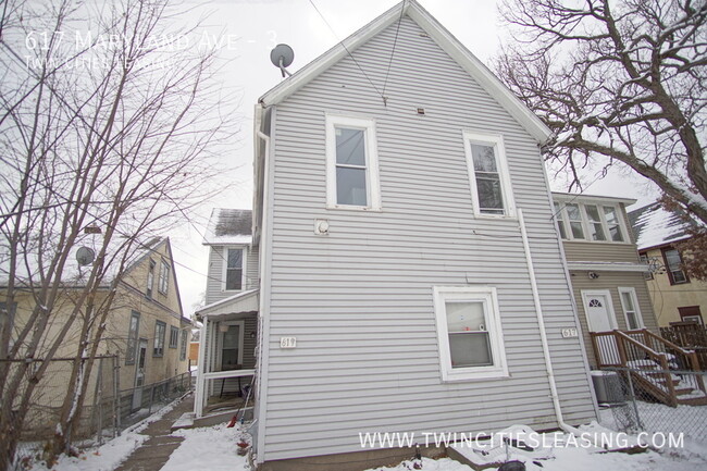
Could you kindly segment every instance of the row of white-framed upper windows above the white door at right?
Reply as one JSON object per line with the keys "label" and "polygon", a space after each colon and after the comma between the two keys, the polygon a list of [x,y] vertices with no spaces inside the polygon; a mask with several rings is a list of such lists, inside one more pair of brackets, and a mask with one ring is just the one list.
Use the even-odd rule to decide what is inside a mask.
{"label": "row of white-framed upper windows above the white door at right", "polygon": [[556,202],[555,219],[560,237],[567,240],[627,240],[619,210],[615,206]]}

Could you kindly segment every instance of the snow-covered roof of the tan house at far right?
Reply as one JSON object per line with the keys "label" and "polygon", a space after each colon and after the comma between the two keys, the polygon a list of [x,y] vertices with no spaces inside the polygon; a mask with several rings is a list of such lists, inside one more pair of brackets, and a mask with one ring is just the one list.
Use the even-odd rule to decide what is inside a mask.
{"label": "snow-covered roof of the tan house at far right", "polygon": [[668,245],[690,237],[690,224],[658,202],[629,212],[638,250]]}

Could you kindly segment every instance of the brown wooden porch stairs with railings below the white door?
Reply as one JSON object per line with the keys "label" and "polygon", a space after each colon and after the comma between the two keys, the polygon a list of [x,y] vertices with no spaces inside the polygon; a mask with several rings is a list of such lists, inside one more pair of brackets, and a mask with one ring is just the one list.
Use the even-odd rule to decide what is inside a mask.
{"label": "brown wooden porch stairs with railings below the white door", "polygon": [[599,370],[628,369],[638,387],[655,400],[678,405],[707,405],[700,374],[675,374],[702,371],[694,350],[654,334],[647,329],[633,331],[590,332]]}

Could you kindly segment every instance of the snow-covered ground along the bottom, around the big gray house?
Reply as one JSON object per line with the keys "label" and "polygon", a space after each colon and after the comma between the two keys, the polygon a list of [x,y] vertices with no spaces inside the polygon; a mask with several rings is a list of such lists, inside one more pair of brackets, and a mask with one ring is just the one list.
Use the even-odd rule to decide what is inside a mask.
{"label": "snow-covered ground along the bottom, around the big gray house", "polygon": [[[139,431],[147,426],[148,423],[158,420],[173,406],[160,410],[158,414],[125,431],[122,436],[95,450],[86,451],[78,458],[63,457],[52,470],[113,470],[147,438],[145,435],[139,435]],[[516,451],[510,455],[510,459],[525,462],[528,471],[693,471],[707,469],[707,407],[682,406],[673,409],[642,402],[640,404],[640,411],[642,414],[658,413],[674,419],[671,420],[671,423],[675,425],[666,429],[649,427],[649,432],[679,434],[683,432],[680,429],[680,423],[687,423],[687,421],[694,423],[696,420],[705,424],[704,431],[697,434],[693,433],[691,437],[686,436],[684,445],[680,448],[663,448],[660,451],[647,450],[641,454],[627,455],[622,453],[597,453],[597,448],[556,446],[541,448],[532,453]],[[603,411],[601,422],[604,426],[612,426],[612,419],[610,411]],[[610,432],[596,423],[583,426],[581,430],[583,432]],[[183,436],[184,442],[172,454],[161,471],[191,471],[197,469],[208,469],[210,471],[249,470],[246,457],[237,455],[237,443],[243,441],[244,437],[248,441],[247,435],[238,426],[227,429],[225,424],[221,424],[211,427],[179,430],[174,432],[173,435]],[[560,437],[560,443],[562,439],[567,441],[569,436],[565,435],[563,437]],[[635,443],[635,437],[629,437],[629,441]],[[464,451],[463,448],[458,448],[458,450],[467,456],[469,456],[468,453],[473,455],[473,450]],[[489,455],[488,462],[503,462],[508,459],[506,454],[505,447],[497,448]],[[476,456],[476,458],[480,458],[480,456]],[[481,459],[483,460],[483,458]],[[421,466],[421,468],[415,467],[415,464]],[[38,466],[34,469],[36,471],[46,470],[45,467]],[[472,471],[468,466],[450,458],[439,460],[423,458],[419,462],[402,461],[393,468],[371,468],[367,471],[410,471],[415,469],[425,471]]]}

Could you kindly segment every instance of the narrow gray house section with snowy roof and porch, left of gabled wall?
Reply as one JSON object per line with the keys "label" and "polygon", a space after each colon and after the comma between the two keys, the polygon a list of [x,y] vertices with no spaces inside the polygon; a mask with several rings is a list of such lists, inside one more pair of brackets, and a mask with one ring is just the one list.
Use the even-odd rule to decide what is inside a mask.
{"label": "narrow gray house section with snowy roof and porch, left of gabled wall", "polygon": [[252,244],[251,226],[250,210],[218,208],[203,238],[209,246],[209,277],[207,306],[196,311],[203,323],[197,360],[198,416],[210,396],[240,394],[256,365],[259,247]]}

